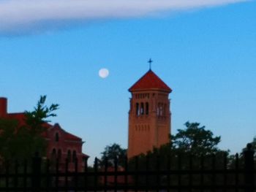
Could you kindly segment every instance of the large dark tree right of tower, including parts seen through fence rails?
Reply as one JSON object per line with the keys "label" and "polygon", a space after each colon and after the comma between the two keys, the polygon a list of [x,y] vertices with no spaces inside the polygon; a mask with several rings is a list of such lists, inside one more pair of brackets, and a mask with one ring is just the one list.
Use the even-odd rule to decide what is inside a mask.
{"label": "large dark tree right of tower, including parts seen through fence rails", "polygon": [[[219,150],[217,145],[220,137],[214,137],[214,134],[200,126],[200,123],[184,123],[186,128],[178,129],[178,133],[170,136],[170,143],[154,148],[146,155],[141,154],[129,160],[129,169],[131,170],[155,170],[155,169],[212,169],[213,160],[216,169],[222,169],[225,163],[227,151]],[[173,175],[170,180],[167,177],[140,176],[138,183],[143,185],[157,185],[157,180],[162,183],[176,185],[181,177]],[[193,181],[200,183],[201,176],[193,175]],[[211,180],[211,175],[203,175],[204,183]],[[148,183],[146,183],[146,179]],[[189,176],[182,177],[184,183],[189,183]]]}

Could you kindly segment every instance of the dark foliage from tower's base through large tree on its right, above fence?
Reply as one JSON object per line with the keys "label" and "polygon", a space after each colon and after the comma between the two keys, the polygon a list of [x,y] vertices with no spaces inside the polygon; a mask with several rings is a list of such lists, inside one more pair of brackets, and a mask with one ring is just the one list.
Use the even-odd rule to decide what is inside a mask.
{"label": "dark foliage from tower's base through large tree on its right, above fence", "polygon": [[[214,134],[205,129],[205,126],[200,126],[200,123],[185,123],[185,129],[178,129],[176,135],[170,136],[170,143],[162,145],[159,148],[154,148],[146,155],[139,155],[138,161],[142,162],[142,167],[154,169],[156,166],[161,166],[166,169],[167,166],[172,166],[173,169],[178,169],[178,162],[182,163],[181,168],[189,166],[189,159],[193,160],[193,167],[200,168],[200,159],[204,158],[205,166],[211,166],[213,157],[219,158],[216,166],[223,165],[223,159],[228,155],[228,151],[219,150],[217,145],[220,142],[220,137],[214,137]],[[129,166],[135,169],[136,158],[129,161]],[[169,165],[168,165],[169,164]]]}

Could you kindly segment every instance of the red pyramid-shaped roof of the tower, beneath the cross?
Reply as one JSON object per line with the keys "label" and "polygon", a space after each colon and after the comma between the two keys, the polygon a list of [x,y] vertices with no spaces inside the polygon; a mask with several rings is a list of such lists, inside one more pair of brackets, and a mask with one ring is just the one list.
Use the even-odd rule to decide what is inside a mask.
{"label": "red pyramid-shaped roof of the tower, beneath the cross", "polygon": [[146,90],[160,90],[165,92],[172,92],[171,88],[165,84],[158,76],[155,74],[151,69],[149,69],[143,77],[140,78],[131,88],[129,91],[146,91]]}

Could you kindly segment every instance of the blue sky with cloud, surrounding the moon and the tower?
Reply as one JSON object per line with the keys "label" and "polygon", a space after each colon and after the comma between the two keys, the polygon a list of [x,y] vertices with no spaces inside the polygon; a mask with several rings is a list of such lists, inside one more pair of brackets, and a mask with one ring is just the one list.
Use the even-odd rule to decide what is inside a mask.
{"label": "blue sky with cloud, surrounding the moon and the tower", "polygon": [[173,134],[189,120],[220,135],[219,147],[232,153],[252,141],[255,1],[111,1],[88,8],[64,0],[74,5],[68,14],[48,0],[37,7],[22,0],[28,9],[0,1],[0,96],[9,112],[32,110],[47,95],[48,104],[60,104],[53,123],[82,137],[93,161],[113,142],[127,147],[127,89],[152,58],[153,71],[173,89]]}

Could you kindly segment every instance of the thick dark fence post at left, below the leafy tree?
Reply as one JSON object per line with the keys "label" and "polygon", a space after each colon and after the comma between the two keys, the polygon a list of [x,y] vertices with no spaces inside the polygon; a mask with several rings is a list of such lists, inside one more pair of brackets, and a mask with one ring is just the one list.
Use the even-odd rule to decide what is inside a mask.
{"label": "thick dark fence post at left, below the leafy tree", "polygon": [[41,158],[39,153],[35,153],[32,161],[32,191],[37,192],[41,183]]}

